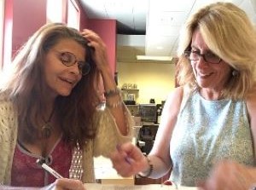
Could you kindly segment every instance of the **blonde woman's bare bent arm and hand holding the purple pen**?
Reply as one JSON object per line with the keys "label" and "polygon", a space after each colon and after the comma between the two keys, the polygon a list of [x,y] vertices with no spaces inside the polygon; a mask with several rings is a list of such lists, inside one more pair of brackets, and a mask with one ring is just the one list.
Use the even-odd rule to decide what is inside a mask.
{"label": "blonde woman's bare bent arm and hand holding the purple pen", "polygon": [[[166,174],[171,166],[169,155],[169,142],[171,140],[172,130],[177,120],[180,103],[183,96],[183,89],[177,88],[172,95],[168,97],[163,110],[160,128],[157,132],[154,147],[148,158],[150,164],[153,164],[151,178],[159,178]],[[131,142],[120,145],[118,150],[112,153],[111,160],[113,168],[121,176],[131,176],[137,173],[147,176],[150,171],[147,158],[143,156],[141,150],[132,145]]]}

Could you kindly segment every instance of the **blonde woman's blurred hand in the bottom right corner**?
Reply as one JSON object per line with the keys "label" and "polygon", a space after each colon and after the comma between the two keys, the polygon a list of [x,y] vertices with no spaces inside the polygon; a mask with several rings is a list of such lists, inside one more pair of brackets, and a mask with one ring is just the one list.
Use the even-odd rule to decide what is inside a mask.
{"label": "blonde woman's blurred hand in the bottom right corner", "polygon": [[233,161],[222,161],[199,187],[204,190],[247,190],[253,183],[256,183],[256,168],[248,168]]}

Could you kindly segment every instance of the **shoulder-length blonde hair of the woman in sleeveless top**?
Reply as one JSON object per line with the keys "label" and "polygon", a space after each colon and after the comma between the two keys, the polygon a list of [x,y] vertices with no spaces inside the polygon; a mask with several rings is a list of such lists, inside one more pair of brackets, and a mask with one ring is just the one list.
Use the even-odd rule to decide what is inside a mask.
{"label": "shoulder-length blonde hair of the woman in sleeveless top", "polygon": [[187,20],[177,49],[177,81],[190,90],[200,87],[183,52],[190,49],[192,34],[197,29],[208,48],[236,71],[235,75],[230,73],[224,86],[224,98],[246,98],[255,86],[256,32],[245,11],[233,3],[212,3]]}

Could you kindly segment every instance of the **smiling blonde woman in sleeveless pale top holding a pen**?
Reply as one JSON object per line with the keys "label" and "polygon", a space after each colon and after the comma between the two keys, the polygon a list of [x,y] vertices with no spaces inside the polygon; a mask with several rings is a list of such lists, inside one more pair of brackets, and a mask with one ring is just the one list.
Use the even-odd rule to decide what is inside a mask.
{"label": "smiling blonde woman in sleeveless pale top holding a pen", "polygon": [[[171,170],[170,180],[195,187],[219,164],[206,189],[249,188],[256,181],[253,24],[233,3],[209,4],[186,22],[177,55],[181,86],[166,101],[148,158],[127,143],[113,153],[114,168],[152,178]],[[216,177],[224,165],[229,170]]]}

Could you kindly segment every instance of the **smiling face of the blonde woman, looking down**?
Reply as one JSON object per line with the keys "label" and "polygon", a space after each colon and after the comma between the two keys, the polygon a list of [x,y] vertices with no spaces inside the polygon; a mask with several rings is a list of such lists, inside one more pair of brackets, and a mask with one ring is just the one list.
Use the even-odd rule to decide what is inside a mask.
{"label": "smiling face of the blonde woman, looking down", "polygon": [[[201,55],[211,52],[199,30],[195,30],[193,33],[191,51],[196,51]],[[230,78],[231,66],[224,60],[221,60],[218,64],[212,64],[205,61],[201,56],[199,60],[192,60],[191,66],[195,79],[201,88],[219,91],[224,88],[224,84]]]}

